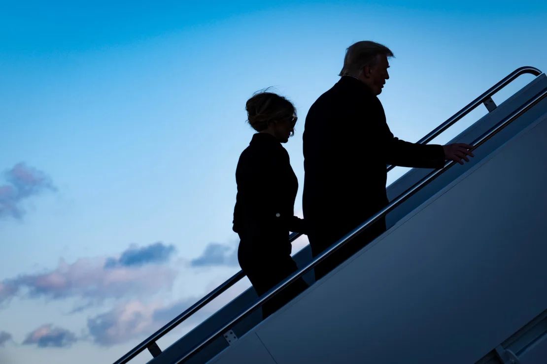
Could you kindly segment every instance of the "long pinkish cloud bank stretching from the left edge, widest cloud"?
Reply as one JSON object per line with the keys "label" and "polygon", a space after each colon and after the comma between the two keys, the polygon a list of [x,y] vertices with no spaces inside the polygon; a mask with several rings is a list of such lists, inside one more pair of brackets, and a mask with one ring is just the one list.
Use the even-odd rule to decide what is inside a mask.
{"label": "long pinkish cloud bank stretching from the left edge, widest cloud", "polygon": [[[158,247],[158,244],[161,245],[155,243],[150,247]],[[131,249],[135,248],[125,252]],[[144,247],[136,250],[147,249]],[[157,248],[152,250],[154,249]],[[124,253],[121,254],[122,257]],[[61,259],[54,270],[4,280],[0,283],[0,302],[17,294],[48,299],[77,297],[86,300],[86,305],[83,306],[86,307],[108,298],[150,295],[169,289],[177,275],[173,268],[159,264],[145,265],[143,260],[139,265],[129,266],[108,266],[108,261],[118,262],[123,259],[80,258],[72,264]]]}

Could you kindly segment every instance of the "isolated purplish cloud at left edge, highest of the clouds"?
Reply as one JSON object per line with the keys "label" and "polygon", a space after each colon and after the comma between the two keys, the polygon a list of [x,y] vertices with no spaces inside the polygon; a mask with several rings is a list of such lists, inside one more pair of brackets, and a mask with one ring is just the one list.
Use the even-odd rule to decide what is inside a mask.
{"label": "isolated purplish cloud at left edge, highest of the clouds", "polygon": [[0,218],[11,216],[22,219],[25,210],[22,201],[49,190],[56,191],[51,179],[42,171],[18,163],[4,172],[9,184],[0,186]]}

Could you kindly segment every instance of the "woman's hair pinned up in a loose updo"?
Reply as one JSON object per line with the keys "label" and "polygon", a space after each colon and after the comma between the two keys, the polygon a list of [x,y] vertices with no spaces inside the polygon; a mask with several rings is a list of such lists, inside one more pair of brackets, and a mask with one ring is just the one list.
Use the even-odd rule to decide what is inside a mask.
{"label": "woman's hair pinned up in a loose updo", "polygon": [[267,92],[267,88],[258,91],[245,105],[247,121],[257,132],[268,127],[268,123],[296,116],[294,105],[278,94]]}

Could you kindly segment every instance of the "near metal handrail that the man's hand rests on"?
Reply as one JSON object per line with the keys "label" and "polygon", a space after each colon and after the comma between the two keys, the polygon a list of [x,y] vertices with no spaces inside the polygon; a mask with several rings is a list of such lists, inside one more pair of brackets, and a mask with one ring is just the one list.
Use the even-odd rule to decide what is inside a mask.
{"label": "near metal handrail that the man's hand rests on", "polygon": [[[543,88],[543,90],[536,94],[536,96],[529,99],[525,104],[520,106],[519,109],[515,110],[513,113],[511,113],[509,116],[505,117],[501,122],[499,122],[496,126],[490,128],[486,133],[479,136],[479,138],[475,139],[471,145],[473,148],[471,150],[474,150],[484,144],[488,139],[492,138],[492,136],[496,135],[498,132],[500,132],[502,129],[504,129],[506,126],[508,126],[511,122],[513,122],[517,117],[524,114],[528,109],[532,108],[532,106],[539,103],[543,98],[547,96],[547,87]],[[357,226],[357,228],[350,231],[348,234],[346,234],[344,237],[342,237],[339,241],[331,245],[327,250],[324,250],[323,253],[316,256],[315,259],[313,259],[311,262],[309,262],[304,268],[301,270],[293,273],[292,276],[285,279],[280,284],[276,285],[276,287],[269,290],[264,296],[261,296],[258,301],[253,303],[251,307],[248,307],[245,311],[237,315],[234,319],[230,320],[229,323],[225,324],[222,329],[217,330],[214,332],[210,337],[208,337],[205,341],[201,342],[201,344],[196,345],[189,353],[185,354],[181,359],[178,359],[176,361],[176,364],[179,364],[183,362],[184,360],[188,359],[191,355],[194,355],[196,351],[199,351],[202,349],[205,345],[213,341],[217,336],[222,335],[223,332],[228,330],[231,326],[237,323],[237,321],[241,320],[243,317],[245,317],[247,314],[251,313],[254,309],[260,307],[263,305],[264,302],[271,299],[272,296],[276,295],[278,292],[280,292],[282,289],[286,288],[289,284],[296,281],[296,279],[300,278],[305,273],[309,272],[313,267],[315,267],[317,264],[322,262],[325,258],[327,258],[332,253],[336,252],[339,248],[344,246],[348,241],[350,241],[352,238],[359,235],[361,232],[363,232],[365,229],[369,228],[370,225],[374,224],[382,218],[385,214],[388,212],[391,212],[395,207],[402,204],[404,201],[409,199],[412,195],[416,194],[418,191],[420,191],[423,187],[427,186],[430,182],[435,180],[435,178],[439,177],[441,174],[449,170],[453,165],[455,165],[457,162],[450,161],[445,163],[445,166],[441,169],[434,170],[430,172],[428,175],[423,177],[420,181],[418,181],[414,186],[406,190],[403,194],[399,195],[398,198],[394,199],[392,202],[390,202],[386,207],[382,208],[379,212],[374,214],[373,217],[366,220],[364,223]]]}

